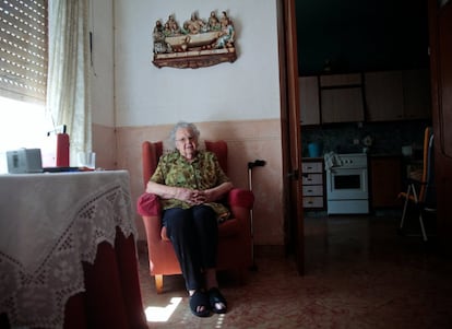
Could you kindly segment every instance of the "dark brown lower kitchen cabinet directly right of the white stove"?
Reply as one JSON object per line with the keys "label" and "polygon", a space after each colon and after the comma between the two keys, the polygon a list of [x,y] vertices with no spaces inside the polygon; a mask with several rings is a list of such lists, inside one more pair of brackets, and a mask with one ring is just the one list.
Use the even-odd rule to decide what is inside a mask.
{"label": "dark brown lower kitchen cabinet directly right of the white stove", "polygon": [[401,207],[397,196],[402,191],[402,168],[399,155],[370,157],[370,200],[373,209]]}

